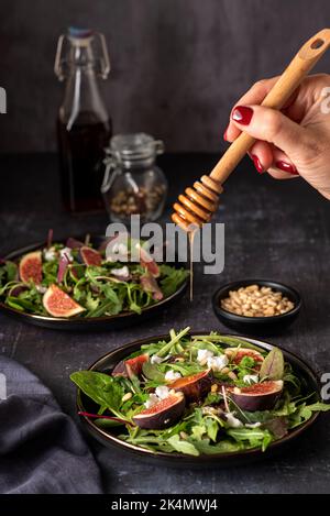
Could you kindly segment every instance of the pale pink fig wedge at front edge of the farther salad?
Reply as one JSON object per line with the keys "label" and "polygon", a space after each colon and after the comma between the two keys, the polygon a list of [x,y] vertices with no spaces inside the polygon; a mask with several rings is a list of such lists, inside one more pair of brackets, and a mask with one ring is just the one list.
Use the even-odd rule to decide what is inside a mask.
{"label": "pale pink fig wedge at front edge of the farther salad", "polygon": [[51,285],[45,292],[43,306],[53,317],[73,317],[85,311],[85,308],[56,285]]}

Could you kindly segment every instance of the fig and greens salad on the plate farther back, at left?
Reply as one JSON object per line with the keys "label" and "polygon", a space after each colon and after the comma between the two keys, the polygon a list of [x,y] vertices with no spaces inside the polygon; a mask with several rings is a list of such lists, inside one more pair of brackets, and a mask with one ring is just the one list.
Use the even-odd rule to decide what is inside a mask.
{"label": "fig and greens salad on the plate farther back, at left", "polygon": [[[133,244],[138,261],[130,261]],[[123,263],[118,252],[106,256],[105,244],[95,249],[72,238],[66,244],[48,239],[19,263],[0,261],[0,300],[22,312],[55,318],[141,314],[174,294],[189,274],[155,263],[140,242],[129,240],[125,251],[129,261]]]}

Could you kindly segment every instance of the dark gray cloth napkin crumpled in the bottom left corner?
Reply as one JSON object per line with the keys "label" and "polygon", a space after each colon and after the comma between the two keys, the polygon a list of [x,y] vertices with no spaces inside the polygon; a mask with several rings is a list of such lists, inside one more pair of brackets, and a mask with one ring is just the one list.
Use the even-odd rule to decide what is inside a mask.
{"label": "dark gray cloth napkin crumpled in the bottom left corner", "polygon": [[30,371],[0,356],[0,493],[102,493],[74,421]]}

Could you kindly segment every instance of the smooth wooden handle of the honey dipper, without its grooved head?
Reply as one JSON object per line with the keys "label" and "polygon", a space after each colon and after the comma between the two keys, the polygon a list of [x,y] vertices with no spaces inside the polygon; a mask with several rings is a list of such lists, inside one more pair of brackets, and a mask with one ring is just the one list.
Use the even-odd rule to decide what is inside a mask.
{"label": "smooth wooden handle of the honey dipper, without its grooved head", "polygon": [[[329,47],[330,29],[323,29],[308,40],[273,86],[272,90],[262,102],[262,106],[272,109],[282,109],[301,80]],[[221,184],[224,183],[254,142],[254,138],[242,132],[217,163],[210,176]]]}

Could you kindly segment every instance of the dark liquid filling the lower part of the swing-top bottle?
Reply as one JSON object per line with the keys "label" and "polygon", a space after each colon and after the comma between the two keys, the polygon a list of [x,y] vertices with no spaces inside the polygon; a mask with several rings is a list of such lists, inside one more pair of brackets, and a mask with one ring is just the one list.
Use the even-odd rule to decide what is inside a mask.
{"label": "dark liquid filling the lower part of the swing-top bottle", "polygon": [[62,191],[64,206],[68,211],[103,209],[100,194],[102,158],[111,133],[111,122],[99,122],[94,113],[79,113],[70,129],[58,119]]}

